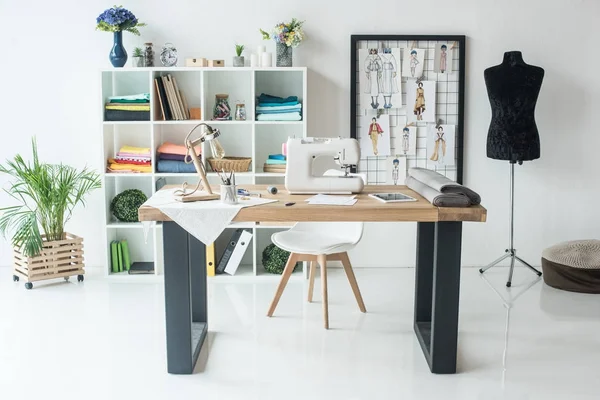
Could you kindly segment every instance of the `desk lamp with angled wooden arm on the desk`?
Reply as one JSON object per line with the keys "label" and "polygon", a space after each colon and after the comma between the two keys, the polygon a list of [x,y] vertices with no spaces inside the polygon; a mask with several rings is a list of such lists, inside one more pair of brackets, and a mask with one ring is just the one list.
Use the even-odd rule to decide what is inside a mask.
{"label": "desk lamp with angled wooden arm on the desk", "polygon": [[[201,126],[203,127],[203,130],[200,137],[192,140],[192,133],[194,133],[194,131]],[[220,197],[218,194],[213,193],[210,184],[208,183],[208,179],[206,178],[206,168],[200,160],[200,157],[198,157],[198,154],[196,154],[195,150],[196,146],[200,143],[209,142],[213,156],[216,158],[223,158],[225,156],[225,150],[223,150],[223,146],[221,146],[219,140],[217,139],[217,137],[219,137],[220,135],[221,132],[218,129],[213,128],[212,126],[207,125],[203,122],[193,127],[192,130],[185,137],[185,140],[183,142],[184,146],[187,149],[185,163],[194,163],[196,172],[198,172],[198,175],[200,175],[200,181],[198,181],[196,188],[191,192],[186,190],[188,183],[184,182],[181,185],[181,189],[175,191],[175,197],[177,200],[183,202],[190,202],[200,200],[214,200]]]}

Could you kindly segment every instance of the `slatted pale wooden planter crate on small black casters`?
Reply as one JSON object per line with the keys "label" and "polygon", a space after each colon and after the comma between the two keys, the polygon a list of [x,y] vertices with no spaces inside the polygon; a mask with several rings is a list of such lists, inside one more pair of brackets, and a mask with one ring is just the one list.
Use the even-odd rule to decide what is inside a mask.
{"label": "slatted pale wooden planter crate on small black casters", "polygon": [[63,240],[47,242],[45,235],[40,255],[25,257],[17,249],[14,250],[15,270],[13,280],[25,280],[25,287],[31,289],[32,282],[46,279],[64,278],[77,275],[83,281],[83,238],[65,232]]}

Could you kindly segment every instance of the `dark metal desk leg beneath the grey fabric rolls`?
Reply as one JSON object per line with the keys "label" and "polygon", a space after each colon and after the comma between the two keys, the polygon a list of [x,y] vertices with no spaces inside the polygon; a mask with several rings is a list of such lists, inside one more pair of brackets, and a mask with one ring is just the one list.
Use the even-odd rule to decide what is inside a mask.
{"label": "dark metal desk leg beneath the grey fabric rolls", "polygon": [[461,222],[419,223],[415,333],[431,372],[456,372]]}

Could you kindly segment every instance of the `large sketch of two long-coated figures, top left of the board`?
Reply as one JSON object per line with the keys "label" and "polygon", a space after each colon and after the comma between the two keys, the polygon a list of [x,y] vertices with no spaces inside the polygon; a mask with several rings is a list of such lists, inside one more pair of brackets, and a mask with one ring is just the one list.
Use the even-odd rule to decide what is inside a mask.
{"label": "large sketch of two long-coated figures, top left of the board", "polygon": [[359,50],[361,108],[402,107],[400,49]]}

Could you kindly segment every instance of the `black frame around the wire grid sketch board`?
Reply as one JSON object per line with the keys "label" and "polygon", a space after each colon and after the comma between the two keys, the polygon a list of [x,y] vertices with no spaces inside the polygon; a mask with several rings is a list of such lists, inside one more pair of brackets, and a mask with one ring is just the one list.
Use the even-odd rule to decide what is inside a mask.
{"label": "black frame around the wire grid sketch board", "polygon": [[[444,41],[458,43],[458,123],[456,125],[456,182],[463,182],[464,132],[465,132],[465,66],[466,66],[466,36],[465,35],[370,35],[356,34],[350,36],[350,137],[357,138],[356,116],[358,104],[358,42],[361,41]],[[354,171],[356,172],[356,171]]]}

